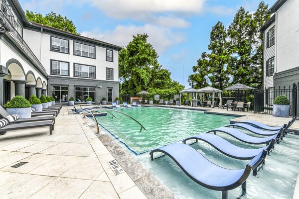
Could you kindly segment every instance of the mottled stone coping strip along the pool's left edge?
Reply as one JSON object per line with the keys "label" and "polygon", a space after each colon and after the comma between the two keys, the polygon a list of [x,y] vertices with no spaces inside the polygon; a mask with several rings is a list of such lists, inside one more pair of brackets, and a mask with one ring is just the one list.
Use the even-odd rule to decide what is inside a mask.
{"label": "mottled stone coping strip along the pool's left edge", "polygon": [[95,122],[90,117],[84,117],[83,120],[148,199],[178,199],[118,141],[111,138],[105,128],[99,126],[100,133],[97,133]]}

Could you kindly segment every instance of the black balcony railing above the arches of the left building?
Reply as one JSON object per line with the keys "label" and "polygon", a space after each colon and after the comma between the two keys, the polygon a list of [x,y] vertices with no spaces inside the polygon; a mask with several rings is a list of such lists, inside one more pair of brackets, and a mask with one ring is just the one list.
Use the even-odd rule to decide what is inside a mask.
{"label": "black balcony railing above the arches of the left building", "polygon": [[29,60],[31,60],[43,73],[46,73],[45,68],[42,66],[42,64],[39,62],[39,60],[36,58],[34,53],[31,51],[29,46],[26,44],[26,42],[23,40],[21,35],[15,30],[14,26],[9,21],[6,14],[0,10],[0,24],[1,29],[4,29],[6,33],[15,41],[15,43],[23,50],[23,52],[28,56]]}

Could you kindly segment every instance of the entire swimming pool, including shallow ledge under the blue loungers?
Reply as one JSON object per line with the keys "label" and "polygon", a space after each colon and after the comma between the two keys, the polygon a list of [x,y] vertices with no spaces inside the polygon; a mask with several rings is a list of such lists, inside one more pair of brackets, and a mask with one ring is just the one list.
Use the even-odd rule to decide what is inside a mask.
{"label": "entire swimming pool, including shallow ledge under the blue loungers", "polygon": [[[119,110],[119,109],[118,109]],[[156,176],[180,199],[220,198],[221,192],[206,189],[193,182],[168,156],[150,161],[149,152],[145,151],[177,142],[190,135],[223,126],[234,117],[205,114],[202,111],[142,107],[120,110],[138,119],[146,131],[133,120],[119,113],[111,116],[98,117],[98,122],[107,128],[119,140],[126,143],[133,155],[153,175]],[[219,116],[219,117],[218,117]],[[172,129],[172,130],[170,130]],[[250,132],[247,132],[251,134]],[[229,135],[219,133],[221,137],[243,148],[260,148],[264,145],[248,145]],[[189,142],[188,144],[190,144]],[[199,141],[191,145],[211,162],[229,169],[245,168],[248,160],[237,160],[227,157],[216,149]],[[288,134],[281,144],[266,158],[266,164],[260,168],[258,175],[250,175],[247,180],[247,194],[240,196],[241,187],[228,192],[229,198],[240,199],[291,199],[293,197],[297,174],[299,171],[299,136]]]}

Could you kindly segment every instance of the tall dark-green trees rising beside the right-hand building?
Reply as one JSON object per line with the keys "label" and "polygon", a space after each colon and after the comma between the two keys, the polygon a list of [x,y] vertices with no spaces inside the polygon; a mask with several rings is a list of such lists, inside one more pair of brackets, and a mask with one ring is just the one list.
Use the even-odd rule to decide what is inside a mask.
{"label": "tall dark-green trees rising beside the right-hand building", "polygon": [[[263,80],[263,34],[260,28],[270,18],[268,5],[261,1],[257,10],[250,14],[243,7],[237,11],[228,29],[219,21],[212,27],[210,33],[210,52],[203,52],[193,66],[194,74],[189,76],[189,83],[195,83],[196,88],[207,86],[205,75],[212,74],[212,86],[224,89],[232,84],[241,83],[252,87],[261,87]],[[257,48],[257,53],[251,56],[251,50]],[[240,60],[231,57],[238,53]],[[223,69],[227,64],[227,70]],[[229,83],[229,76],[234,77]]]}

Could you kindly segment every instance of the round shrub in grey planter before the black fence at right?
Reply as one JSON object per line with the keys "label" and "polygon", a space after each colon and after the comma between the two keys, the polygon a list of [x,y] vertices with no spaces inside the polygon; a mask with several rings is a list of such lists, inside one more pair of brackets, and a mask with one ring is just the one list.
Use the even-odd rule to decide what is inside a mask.
{"label": "round shrub in grey planter before the black fence at right", "polygon": [[290,101],[286,96],[278,96],[273,103],[273,116],[289,117]]}

